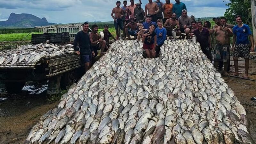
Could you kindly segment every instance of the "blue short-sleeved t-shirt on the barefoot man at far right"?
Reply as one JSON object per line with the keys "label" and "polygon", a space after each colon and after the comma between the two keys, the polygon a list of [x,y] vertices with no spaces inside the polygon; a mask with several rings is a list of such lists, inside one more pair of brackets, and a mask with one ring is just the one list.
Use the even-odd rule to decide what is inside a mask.
{"label": "blue short-sleeved t-shirt on the barefoot man at far right", "polygon": [[236,44],[250,44],[248,36],[252,35],[252,32],[248,25],[243,24],[241,28],[236,25],[233,34],[236,35]]}

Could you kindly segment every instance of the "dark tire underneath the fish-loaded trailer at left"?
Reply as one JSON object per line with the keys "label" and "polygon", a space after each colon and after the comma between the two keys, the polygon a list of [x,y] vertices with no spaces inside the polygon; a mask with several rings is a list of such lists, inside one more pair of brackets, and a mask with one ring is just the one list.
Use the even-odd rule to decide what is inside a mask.
{"label": "dark tire underneath the fish-loaded trailer at left", "polygon": [[5,89],[8,93],[18,93],[26,82],[5,82]]}

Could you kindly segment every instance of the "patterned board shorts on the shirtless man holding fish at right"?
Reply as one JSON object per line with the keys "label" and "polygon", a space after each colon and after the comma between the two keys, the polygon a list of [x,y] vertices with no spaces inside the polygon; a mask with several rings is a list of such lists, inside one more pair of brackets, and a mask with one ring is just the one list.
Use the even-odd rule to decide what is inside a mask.
{"label": "patterned board shorts on the shirtless man holding fish at right", "polygon": [[229,44],[216,44],[214,48],[214,61],[228,62],[230,55],[230,45]]}

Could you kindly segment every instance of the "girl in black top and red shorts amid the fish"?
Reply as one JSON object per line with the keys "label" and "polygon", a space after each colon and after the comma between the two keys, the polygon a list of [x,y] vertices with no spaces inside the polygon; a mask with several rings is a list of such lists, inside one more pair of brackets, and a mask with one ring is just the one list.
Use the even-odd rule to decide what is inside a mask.
{"label": "girl in black top and red shorts amid the fish", "polygon": [[146,51],[148,58],[153,58],[156,56],[156,32],[155,25],[149,25],[149,29],[144,32],[142,36],[143,50]]}

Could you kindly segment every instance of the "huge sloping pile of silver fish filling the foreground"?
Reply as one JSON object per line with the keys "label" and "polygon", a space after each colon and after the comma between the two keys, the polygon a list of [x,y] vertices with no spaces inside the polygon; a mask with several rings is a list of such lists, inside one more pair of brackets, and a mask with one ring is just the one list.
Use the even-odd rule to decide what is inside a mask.
{"label": "huge sloping pile of silver fish filling the foreground", "polygon": [[235,93],[198,43],[166,40],[158,58],[119,40],[41,116],[28,143],[254,143]]}

